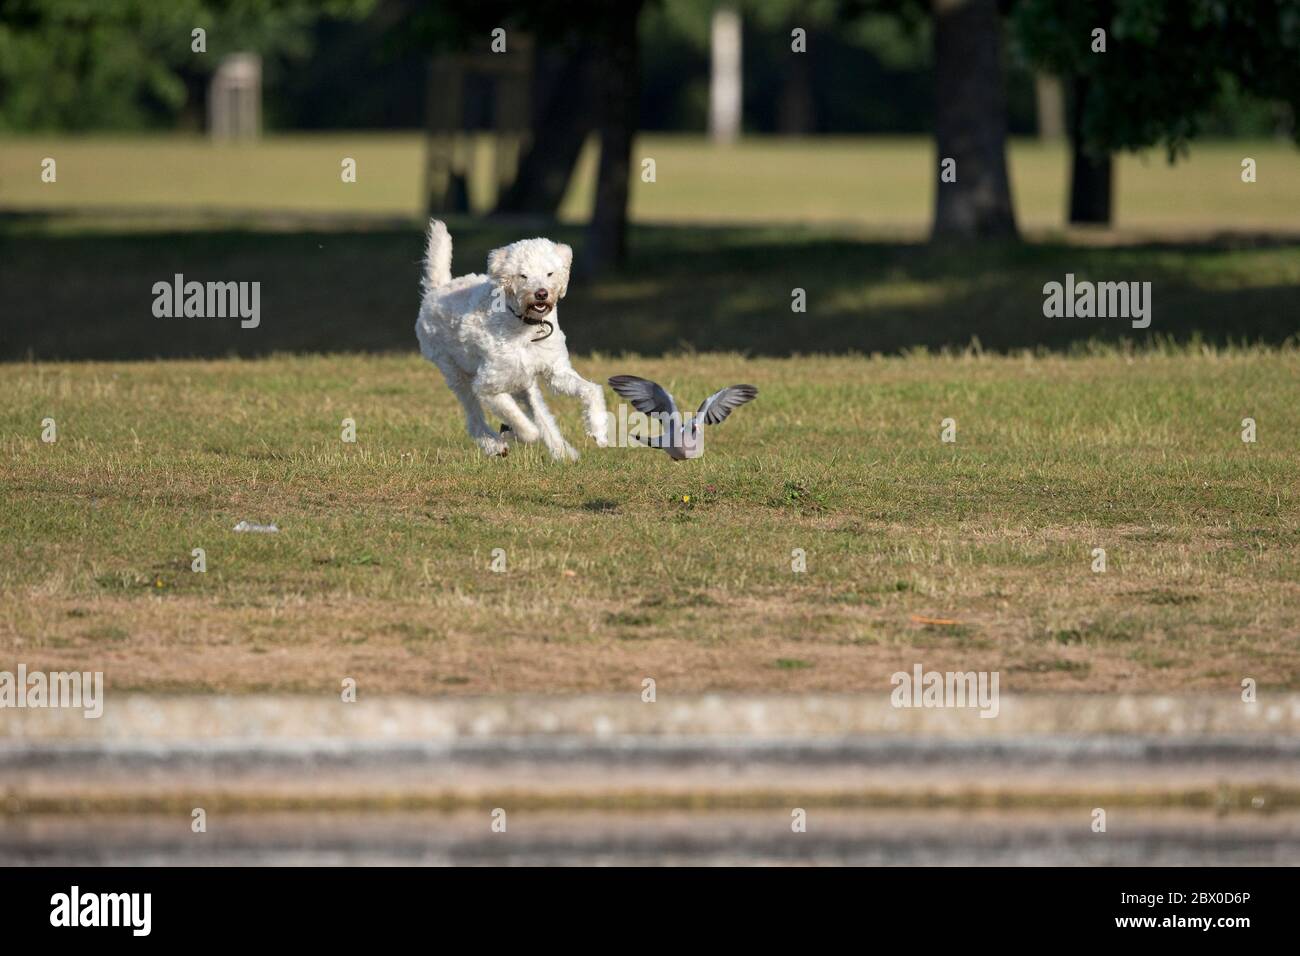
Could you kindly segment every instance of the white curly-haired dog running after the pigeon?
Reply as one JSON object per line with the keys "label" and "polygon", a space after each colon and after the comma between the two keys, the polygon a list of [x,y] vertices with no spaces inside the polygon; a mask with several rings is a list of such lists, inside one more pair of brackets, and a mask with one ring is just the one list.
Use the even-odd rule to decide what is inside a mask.
{"label": "white curly-haired dog running after the pigeon", "polygon": [[[604,393],[573,371],[556,306],[568,291],[573,250],[550,239],[520,239],[488,254],[488,274],[451,277],[451,235],[429,222],[424,300],[415,334],[465,410],[469,437],[489,455],[504,455],[510,437],[541,441],[552,458],[576,459],[538,380],[582,399],[586,433],[608,445]],[[498,433],[484,406],[504,424]]]}

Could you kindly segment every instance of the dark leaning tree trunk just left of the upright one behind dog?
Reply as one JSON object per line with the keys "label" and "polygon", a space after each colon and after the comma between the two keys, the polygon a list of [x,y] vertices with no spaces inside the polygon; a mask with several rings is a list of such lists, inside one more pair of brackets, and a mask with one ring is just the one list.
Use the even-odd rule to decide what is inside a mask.
{"label": "dark leaning tree trunk just left of the upright one behind dog", "polygon": [[597,48],[572,39],[540,52],[533,83],[529,144],[515,182],[497,202],[498,213],[555,216],[592,133],[592,61]]}

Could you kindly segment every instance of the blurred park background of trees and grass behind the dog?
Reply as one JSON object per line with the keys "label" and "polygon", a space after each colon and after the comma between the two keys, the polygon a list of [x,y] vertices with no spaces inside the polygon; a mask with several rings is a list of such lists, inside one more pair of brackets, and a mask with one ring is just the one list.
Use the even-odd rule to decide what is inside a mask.
{"label": "blurred park background of trees and grass behind the dog", "polygon": [[0,0],[0,358],[413,350],[429,215],[580,352],[1282,342],[1297,103],[1300,0]]}

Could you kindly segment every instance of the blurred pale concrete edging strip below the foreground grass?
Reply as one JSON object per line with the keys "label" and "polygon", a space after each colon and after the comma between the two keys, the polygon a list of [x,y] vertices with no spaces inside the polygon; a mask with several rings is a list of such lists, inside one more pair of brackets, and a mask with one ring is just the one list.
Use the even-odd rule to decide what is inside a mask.
{"label": "blurred pale concrete edging strip below the foreground grass", "polygon": [[0,711],[10,816],[90,810],[1300,808],[1300,695],[113,697]]}

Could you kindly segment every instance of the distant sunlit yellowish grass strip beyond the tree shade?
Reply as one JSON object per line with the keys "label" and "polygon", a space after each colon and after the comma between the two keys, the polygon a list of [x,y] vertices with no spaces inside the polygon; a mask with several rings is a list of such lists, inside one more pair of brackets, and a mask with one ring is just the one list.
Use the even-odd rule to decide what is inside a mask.
{"label": "distant sunlit yellowish grass strip beyond the tree shade", "polygon": [[[486,142],[469,147],[482,169]],[[1069,157],[1062,144],[1014,140],[1011,187],[1020,224],[1065,224]],[[53,157],[58,181],[40,181]],[[343,183],[342,159],[358,163]],[[1243,183],[1242,159],[1258,163]],[[751,138],[715,148],[699,137],[642,135],[634,159],[655,161],[655,181],[632,183],[638,222],[841,224],[874,234],[915,237],[933,208],[936,161],[930,139]],[[1300,233],[1300,166],[1279,142],[1201,142],[1170,166],[1162,151],[1117,160],[1115,225],[1138,233]],[[424,146],[417,134],[278,135],[257,146],[212,146],[202,138],[13,138],[0,140],[0,208],[311,211],[417,217]],[[582,222],[592,203],[595,151],[578,164],[562,220]],[[490,177],[481,179],[486,183]],[[474,196],[491,202],[486,186]]]}

